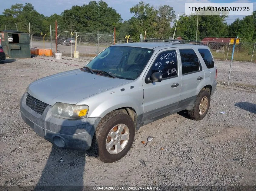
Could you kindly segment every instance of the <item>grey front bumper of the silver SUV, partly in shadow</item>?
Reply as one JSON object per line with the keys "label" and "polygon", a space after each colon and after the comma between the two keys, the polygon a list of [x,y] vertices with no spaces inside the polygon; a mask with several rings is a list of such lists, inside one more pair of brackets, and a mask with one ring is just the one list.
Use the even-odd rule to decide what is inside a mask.
{"label": "grey front bumper of the silver SUV, partly in shadow", "polygon": [[88,150],[91,147],[100,117],[62,119],[52,116],[50,105],[41,115],[26,105],[26,97],[27,93],[20,100],[21,117],[39,136],[58,147],[80,150]]}

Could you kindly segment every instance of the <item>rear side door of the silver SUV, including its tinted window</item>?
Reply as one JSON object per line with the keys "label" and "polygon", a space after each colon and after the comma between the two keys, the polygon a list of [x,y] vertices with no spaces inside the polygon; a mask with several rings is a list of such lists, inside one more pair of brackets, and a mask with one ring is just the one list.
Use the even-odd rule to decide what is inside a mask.
{"label": "rear side door of the silver SUV, including its tinted window", "polygon": [[194,104],[194,100],[205,84],[204,70],[198,55],[192,48],[180,48],[182,86],[179,107]]}

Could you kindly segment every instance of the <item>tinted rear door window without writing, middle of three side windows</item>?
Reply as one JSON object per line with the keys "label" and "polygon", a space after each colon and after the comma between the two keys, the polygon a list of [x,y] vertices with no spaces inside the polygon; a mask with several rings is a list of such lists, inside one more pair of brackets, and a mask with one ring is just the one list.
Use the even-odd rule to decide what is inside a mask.
{"label": "tinted rear door window without writing, middle of three side windows", "polygon": [[180,49],[182,74],[199,71],[199,59],[192,49]]}

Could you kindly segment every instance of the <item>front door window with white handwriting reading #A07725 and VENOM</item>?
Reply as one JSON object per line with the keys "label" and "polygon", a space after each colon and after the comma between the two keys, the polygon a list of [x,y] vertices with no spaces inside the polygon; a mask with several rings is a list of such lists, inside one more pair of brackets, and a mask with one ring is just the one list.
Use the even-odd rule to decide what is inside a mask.
{"label": "front door window with white handwriting reading #A07725 and VENOM", "polygon": [[151,68],[151,74],[159,72],[163,79],[178,75],[177,54],[175,50],[168,50],[157,56]]}

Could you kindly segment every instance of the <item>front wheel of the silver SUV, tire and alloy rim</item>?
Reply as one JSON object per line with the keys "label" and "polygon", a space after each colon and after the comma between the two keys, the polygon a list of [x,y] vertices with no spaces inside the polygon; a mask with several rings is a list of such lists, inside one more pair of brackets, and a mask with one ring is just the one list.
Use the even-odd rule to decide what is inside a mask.
{"label": "front wheel of the silver SUV, tire and alloy rim", "polygon": [[[111,129],[112,130],[114,129],[114,132],[115,132],[115,129],[117,129],[115,133],[118,133],[118,129],[121,129],[120,124],[124,124],[126,127],[124,127],[124,131],[121,132],[121,135],[113,134],[117,136],[118,140],[114,137],[112,138],[109,137],[108,135]],[[117,125],[120,125],[120,126],[117,126]],[[120,137],[123,137],[123,135],[125,135],[124,132],[126,134],[128,132],[128,140],[121,140]],[[96,158],[98,158],[100,161],[104,163],[112,163],[112,162],[118,161],[121,158],[123,158],[126,155],[126,153],[130,150],[134,140],[134,135],[135,135],[135,126],[131,117],[128,116],[127,113],[124,113],[121,110],[112,111],[108,113],[106,116],[104,116],[101,119],[100,123],[98,124],[92,143],[91,143],[91,151]],[[125,146],[123,148],[119,147],[119,152],[113,154],[114,152],[116,152],[115,151],[116,149],[118,150],[118,147],[116,147],[115,145],[113,147],[109,146],[108,148],[111,147],[111,149],[108,151],[107,144],[113,143],[111,141],[108,142],[109,139],[111,139],[111,141],[113,142],[115,141],[115,144],[118,144],[119,142],[119,145],[123,145],[123,146],[125,145]]]}

